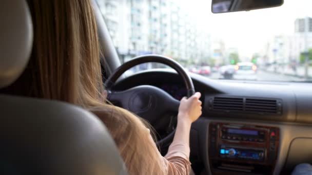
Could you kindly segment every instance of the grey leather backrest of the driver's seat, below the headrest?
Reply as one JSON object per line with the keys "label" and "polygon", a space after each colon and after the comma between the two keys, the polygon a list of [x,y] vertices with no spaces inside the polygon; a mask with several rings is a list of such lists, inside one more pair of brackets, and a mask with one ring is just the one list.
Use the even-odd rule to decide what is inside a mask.
{"label": "grey leather backrest of the driver's seat, below the headrest", "polygon": [[0,174],[127,174],[109,131],[80,107],[0,94],[0,111]]}

